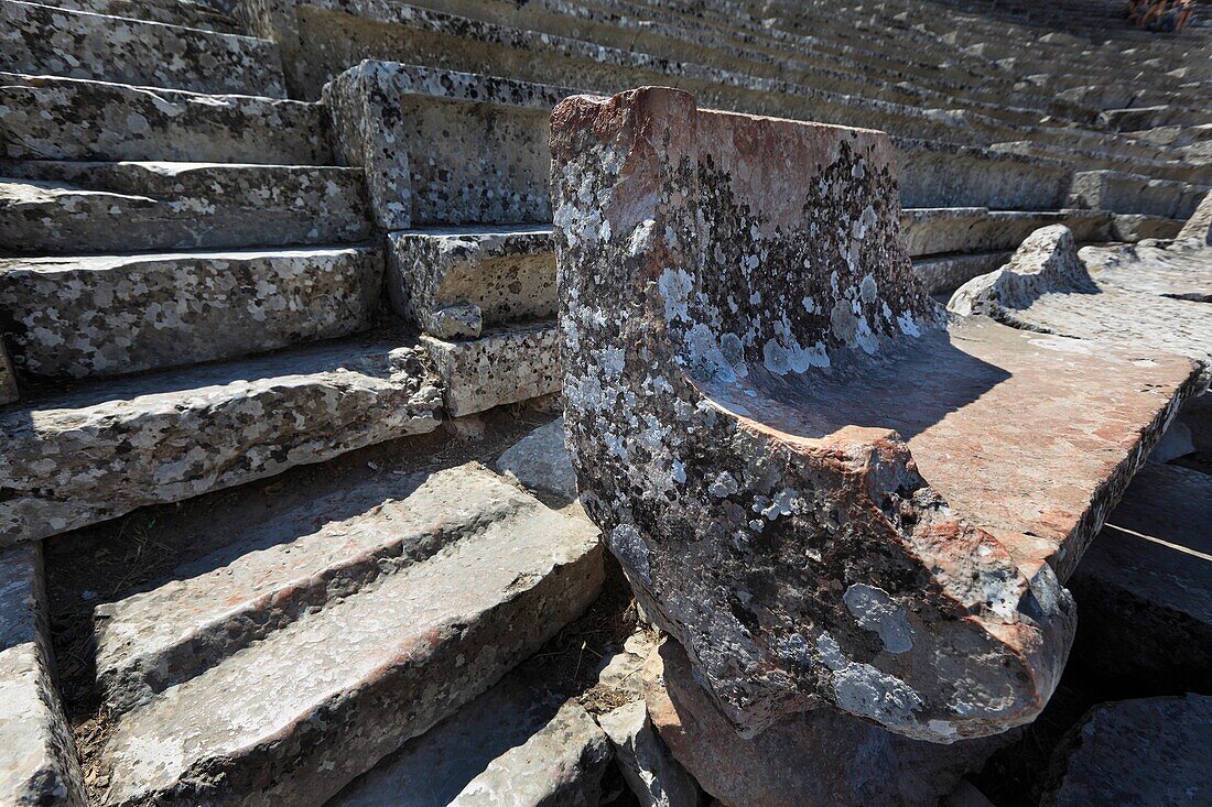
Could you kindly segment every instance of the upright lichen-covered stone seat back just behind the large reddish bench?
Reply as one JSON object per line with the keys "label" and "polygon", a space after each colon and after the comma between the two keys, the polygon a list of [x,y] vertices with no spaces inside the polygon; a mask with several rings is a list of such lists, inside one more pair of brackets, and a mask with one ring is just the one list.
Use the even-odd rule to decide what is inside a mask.
{"label": "upright lichen-covered stone seat back just behind the large reddish bench", "polygon": [[366,61],[325,87],[336,148],[366,171],[387,230],[541,222],[548,116],[572,91],[395,62]]}

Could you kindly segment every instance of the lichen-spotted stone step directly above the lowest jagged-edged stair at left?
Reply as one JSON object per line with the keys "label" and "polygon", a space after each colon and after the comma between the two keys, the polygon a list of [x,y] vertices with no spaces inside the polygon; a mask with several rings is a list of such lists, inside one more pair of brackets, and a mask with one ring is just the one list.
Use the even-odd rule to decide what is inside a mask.
{"label": "lichen-spotted stone step directly above the lowest jagged-edged stair at left", "polygon": [[0,258],[0,321],[30,376],[115,376],[348,336],[382,285],[377,247]]}

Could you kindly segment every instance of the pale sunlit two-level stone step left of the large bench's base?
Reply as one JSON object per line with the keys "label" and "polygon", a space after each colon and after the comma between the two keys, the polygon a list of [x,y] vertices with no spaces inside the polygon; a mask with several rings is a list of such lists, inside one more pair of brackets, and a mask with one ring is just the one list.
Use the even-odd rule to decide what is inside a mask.
{"label": "pale sunlit two-level stone step left of the large bench's base", "polygon": [[[261,534],[231,522],[240,543],[107,609],[102,647],[121,641],[119,624],[137,645],[161,620],[190,630],[207,617],[219,641],[191,676],[115,704],[92,760],[101,803],[324,803],[491,687],[601,588],[596,528],[481,465],[385,492],[351,491],[365,510],[335,500],[339,520],[307,506]],[[330,586],[342,550],[365,568],[344,585],[332,571]],[[265,619],[258,641],[242,641],[231,603]]]}

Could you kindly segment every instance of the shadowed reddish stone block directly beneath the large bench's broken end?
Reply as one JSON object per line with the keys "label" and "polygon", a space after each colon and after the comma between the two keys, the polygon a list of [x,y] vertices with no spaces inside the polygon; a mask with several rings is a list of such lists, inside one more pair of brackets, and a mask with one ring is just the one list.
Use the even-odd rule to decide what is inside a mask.
{"label": "shadowed reddish stone block directly beneath the large bench's broken end", "polygon": [[1001,744],[1001,738],[984,738],[944,748],[830,708],[742,739],[671,640],[648,657],[644,691],[652,723],[674,757],[726,807],[933,805]]}

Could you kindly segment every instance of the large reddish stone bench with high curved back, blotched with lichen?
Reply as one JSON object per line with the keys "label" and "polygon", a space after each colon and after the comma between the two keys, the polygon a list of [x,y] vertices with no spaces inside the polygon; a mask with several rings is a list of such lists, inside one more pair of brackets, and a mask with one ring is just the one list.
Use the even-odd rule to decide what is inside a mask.
{"label": "large reddish stone bench with high curved back, blotched with lichen", "polygon": [[558,107],[553,155],[582,500],[730,720],[1034,719],[1071,641],[1058,577],[1191,362],[944,330],[877,132],[647,88]]}

